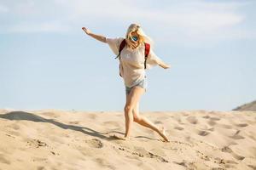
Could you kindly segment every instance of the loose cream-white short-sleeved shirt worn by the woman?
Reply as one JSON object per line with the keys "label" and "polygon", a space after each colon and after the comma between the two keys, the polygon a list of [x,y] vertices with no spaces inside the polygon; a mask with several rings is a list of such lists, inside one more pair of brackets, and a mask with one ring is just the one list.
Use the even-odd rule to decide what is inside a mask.
{"label": "loose cream-white short-sleeved shirt worn by the woman", "polygon": [[[124,40],[124,37],[107,37],[106,41],[109,47],[112,49],[113,54],[119,54],[119,46]],[[120,54],[120,74],[124,79],[125,86],[131,88],[138,81],[142,80],[146,76],[144,69],[145,61],[145,46],[141,43],[137,48],[131,49],[125,45],[125,48]],[[158,65],[157,61],[161,60],[154,51],[150,48],[148,58],[146,60],[146,69],[150,69],[155,65]]]}

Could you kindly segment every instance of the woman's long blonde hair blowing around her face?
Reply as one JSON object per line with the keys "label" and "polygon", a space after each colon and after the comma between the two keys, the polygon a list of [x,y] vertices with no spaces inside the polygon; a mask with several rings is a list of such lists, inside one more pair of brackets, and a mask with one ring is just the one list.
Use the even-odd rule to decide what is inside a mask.
{"label": "woman's long blonde hair blowing around her face", "polygon": [[129,38],[131,38],[131,32],[133,31],[137,31],[137,34],[139,36],[139,44],[146,42],[150,44],[151,48],[153,48],[153,40],[145,34],[145,32],[143,31],[142,27],[139,24],[131,24],[128,27],[125,35],[126,40],[129,40]]}

